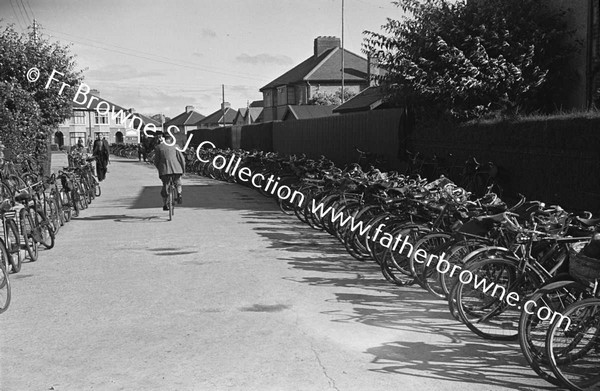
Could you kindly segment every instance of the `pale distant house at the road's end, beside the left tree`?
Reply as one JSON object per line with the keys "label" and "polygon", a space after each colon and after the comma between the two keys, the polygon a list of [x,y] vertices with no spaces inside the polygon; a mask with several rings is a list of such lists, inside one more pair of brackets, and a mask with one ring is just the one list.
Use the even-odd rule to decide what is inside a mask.
{"label": "pale distant house at the road's end, beside the left tree", "polygon": [[[100,102],[108,104],[110,114],[103,114],[106,111],[104,104],[97,110]],[[137,142],[137,131],[130,120],[132,116],[129,116],[129,119],[124,118],[135,110],[125,109],[100,97],[100,91],[90,90],[86,102],[82,104],[74,101],[71,103],[71,107],[73,109],[71,118],[60,124],[53,135],[53,143],[57,144],[59,148],[76,145],[79,139],[83,141],[84,145],[88,145],[96,138],[97,134],[105,137],[111,144],[126,142],[125,137],[127,137],[127,142]],[[124,115],[112,114],[119,111],[122,111]],[[135,141],[133,141],[134,138]]]}

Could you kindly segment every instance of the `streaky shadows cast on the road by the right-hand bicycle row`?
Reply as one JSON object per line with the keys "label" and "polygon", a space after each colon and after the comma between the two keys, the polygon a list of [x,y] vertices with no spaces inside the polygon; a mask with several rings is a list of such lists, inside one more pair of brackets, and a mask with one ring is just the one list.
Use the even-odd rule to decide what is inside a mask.
{"label": "streaky shadows cast on the road by the right-hand bicycle row", "polygon": [[[373,371],[519,390],[541,389],[538,385],[541,380],[528,370],[518,344],[479,339],[451,316],[445,301],[434,299],[416,286],[392,285],[384,279],[377,264],[352,258],[344,245],[328,233],[312,229],[278,210],[243,216],[247,224],[254,225],[254,231],[269,240],[269,248],[290,255],[279,260],[305,272],[304,277],[288,280],[340,288],[331,300],[351,306],[323,312],[332,322],[430,334],[448,341],[436,344],[396,341],[371,347],[365,353],[374,356],[372,363],[378,368]],[[348,293],[348,288],[361,291]]]}

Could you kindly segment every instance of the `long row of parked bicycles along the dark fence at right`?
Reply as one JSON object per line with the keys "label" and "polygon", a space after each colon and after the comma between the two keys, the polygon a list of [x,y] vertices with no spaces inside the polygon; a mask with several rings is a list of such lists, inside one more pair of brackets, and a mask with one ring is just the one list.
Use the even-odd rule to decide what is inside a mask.
{"label": "long row of parked bicycles along the dark fence at right", "polygon": [[[234,170],[218,168],[223,159],[215,167],[217,156],[241,163],[232,175]],[[531,368],[550,383],[599,389],[600,219],[591,213],[524,196],[510,203],[493,192],[494,183],[475,196],[456,185],[464,178],[428,180],[415,165],[400,174],[257,151],[205,149],[200,157],[186,153],[188,172],[275,198],[282,212],[328,232],[352,257],[376,262],[388,281],[420,286],[447,301],[452,316],[477,335],[518,340]],[[243,168],[253,180],[241,178]],[[267,178],[289,192],[267,188]],[[295,192],[302,197],[289,197]],[[398,251],[404,239],[410,254]],[[476,288],[473,280],[500,288]],[[516,296],[509,300],[509,294]]]}

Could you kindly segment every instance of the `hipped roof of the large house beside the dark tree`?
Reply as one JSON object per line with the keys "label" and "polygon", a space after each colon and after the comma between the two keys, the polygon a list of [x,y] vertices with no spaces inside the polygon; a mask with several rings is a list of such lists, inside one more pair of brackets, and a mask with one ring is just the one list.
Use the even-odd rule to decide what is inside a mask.
{"label": "hipped roof of the large house beside the dark tree", "polygon": [[[268,83],[260,91],[282,85],[297,84],[304,81],[341,80],[340,64],[342,49],[335,47],[310,56],[277,79]],[[366,81],[367,59],[344,49],[344,79],[346,81]]]}

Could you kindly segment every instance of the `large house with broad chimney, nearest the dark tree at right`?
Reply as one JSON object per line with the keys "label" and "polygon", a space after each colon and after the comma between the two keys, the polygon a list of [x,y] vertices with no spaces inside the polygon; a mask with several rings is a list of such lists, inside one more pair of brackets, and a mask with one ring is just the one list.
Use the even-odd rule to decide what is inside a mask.
{"label": "large house with broad chimney, nearest the dark tree at right", "polygon": [[358,93],[369,85],[366,58],[340,47],[337,37],[317,37],[313,55],[260,89],[263,93],[263,120],[281,120],[289,105],[306,105],[317,93],[335,93],[342,87]]}

